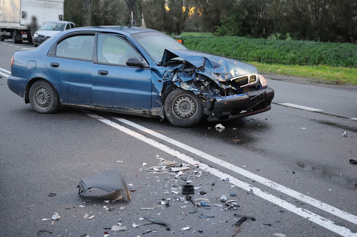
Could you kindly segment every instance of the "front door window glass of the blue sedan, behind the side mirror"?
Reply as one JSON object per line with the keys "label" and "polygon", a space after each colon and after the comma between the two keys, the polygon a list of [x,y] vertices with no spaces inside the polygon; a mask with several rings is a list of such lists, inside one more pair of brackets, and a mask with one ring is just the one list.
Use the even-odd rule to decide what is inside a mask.
{"label": "front door window glass of the blue sedan, behind the side mirror", "polygon": [[129,58],[139,58],[139,54],[124,40],[111,35],[98,35],[97,59],[99,62],[126,65]]}

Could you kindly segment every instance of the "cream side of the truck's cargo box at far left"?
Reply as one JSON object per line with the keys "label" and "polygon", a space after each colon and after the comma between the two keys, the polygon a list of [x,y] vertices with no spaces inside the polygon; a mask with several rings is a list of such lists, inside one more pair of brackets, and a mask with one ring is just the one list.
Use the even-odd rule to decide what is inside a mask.
{"label": "cream side of the truck's cargo box at far left", "polygon": [[0,24],[20,22],[20,0],[0,0]]}

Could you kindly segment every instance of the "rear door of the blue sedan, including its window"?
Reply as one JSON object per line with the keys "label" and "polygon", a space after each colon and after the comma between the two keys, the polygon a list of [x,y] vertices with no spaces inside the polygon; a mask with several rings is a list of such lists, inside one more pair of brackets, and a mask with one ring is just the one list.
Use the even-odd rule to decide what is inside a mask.
{"label": "rear door of the blue sedan, including its window", "polygon": [[70,34],[57,44],[48,74],[61,88],[61,100],[92,104],[94,37],[94,33]]}

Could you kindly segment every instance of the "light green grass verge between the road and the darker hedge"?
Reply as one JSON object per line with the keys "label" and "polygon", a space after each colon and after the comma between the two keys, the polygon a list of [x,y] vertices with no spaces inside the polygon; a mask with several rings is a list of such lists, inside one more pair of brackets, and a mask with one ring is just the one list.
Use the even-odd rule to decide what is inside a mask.
{"label": "light green grass verge between the road and the darker hedge", "polygon": [[260,72],[270,72],[281,75],[307,77],[319,80],[321,83],[334,85],[357,85],[357,68],[331,66],[301,66],[285,64],[266,64],[249,61]]}

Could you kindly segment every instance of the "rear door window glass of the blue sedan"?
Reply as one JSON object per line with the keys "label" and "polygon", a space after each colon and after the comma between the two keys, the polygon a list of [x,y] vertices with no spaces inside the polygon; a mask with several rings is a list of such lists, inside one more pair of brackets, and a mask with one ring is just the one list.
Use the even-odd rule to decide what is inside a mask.
{"label": "rear door window glass of the blue sedan", "polygon": [[76,35],[62,40],[56,49],[56,56],[92,60],[94,35]]}

